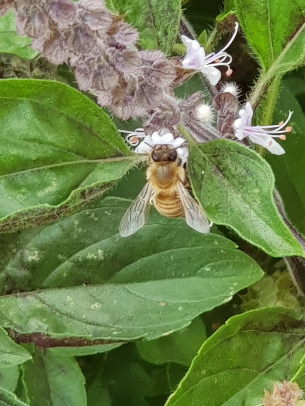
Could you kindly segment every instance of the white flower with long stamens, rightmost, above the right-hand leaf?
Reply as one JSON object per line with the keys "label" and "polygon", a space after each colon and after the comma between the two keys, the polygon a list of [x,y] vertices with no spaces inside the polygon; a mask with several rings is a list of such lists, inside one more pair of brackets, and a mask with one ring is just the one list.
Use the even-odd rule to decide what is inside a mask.
{"label": "white flower with long stamens, rightmost, above the right-hand leaf", "polygon": [[239,112],[240,119],[235,120],[233,123],[235,137],[239,140],[249,137],[253,143],[265,147],[269,152],[282,155],[285,150],[274,138],[286,139],[284,134],[285,132],[291,132],[292,127],[285,127],[285,125],[291,119],[292,113],[293,111],[289,110],[287,120],[285,122],[281,121],[279,125],[251,125],[253,110],[251,104],[247,102],[245,108],[242,108]]}

